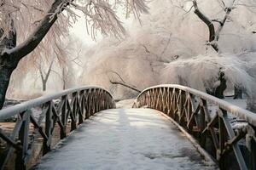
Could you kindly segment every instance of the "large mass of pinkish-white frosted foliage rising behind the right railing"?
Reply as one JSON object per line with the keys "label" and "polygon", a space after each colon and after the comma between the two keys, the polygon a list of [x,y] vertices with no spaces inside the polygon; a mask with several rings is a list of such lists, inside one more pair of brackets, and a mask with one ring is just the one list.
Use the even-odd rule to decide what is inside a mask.
{"label": "large mass of pinkish-white frosted foliage rising behind the right railing", "polygon": [[[212,24],[215,32],[218,31],[218,20],[223,20],[226,14],[222,1],[196,2],[202,14],[209,20],[216,20]],[[229,7],[229,2],[233,3],[224,1],[225,7]],[[130,37],[122,42],[100,42],[93,52],[90,49],[88,56],[93,64],[89,70],[84,70],[84,82],[112,88],[105,72],[117,71],[125,82],[139,89],[160,83],[178,83],[206,91],[218,86],[221,68],[228,90],[233,91],[234,86],[239,85],[251,94],[255,91],[256,80],[253,3],[236,1],[219,31],[218,41],[214,42],[218,45],[216,52],[213,42],[209,42],[208,26],[194,13],[193,1],[153,1],[149,4],[150,15],[141,17],[143,26],[132,23]],[[119,90],[114,93],[121,94]]]}

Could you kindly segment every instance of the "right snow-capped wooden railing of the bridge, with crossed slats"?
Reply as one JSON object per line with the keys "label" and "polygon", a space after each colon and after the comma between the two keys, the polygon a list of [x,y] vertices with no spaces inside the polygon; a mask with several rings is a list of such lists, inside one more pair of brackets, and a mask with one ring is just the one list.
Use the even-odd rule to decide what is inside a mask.
{"label": "right snow-capped wooden railing of the bridge, with crossed slats", "polygon": [[197,139],[221,169],[256,169],[255,113],[180,85],[145,89],[133,107],[170,116]]}

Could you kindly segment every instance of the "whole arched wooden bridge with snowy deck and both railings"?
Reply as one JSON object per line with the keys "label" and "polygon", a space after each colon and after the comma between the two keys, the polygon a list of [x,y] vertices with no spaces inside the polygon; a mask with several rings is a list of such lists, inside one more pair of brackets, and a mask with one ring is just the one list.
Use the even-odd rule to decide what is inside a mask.
{"label": "whole arched wooden bridge with snowy deck and both railings", "polygon": [[115,109],[102,88],[73,88],[3,109],[0,121],[1,169],[256,169],[256,115],[179,85],[145,89],[132,109]]}

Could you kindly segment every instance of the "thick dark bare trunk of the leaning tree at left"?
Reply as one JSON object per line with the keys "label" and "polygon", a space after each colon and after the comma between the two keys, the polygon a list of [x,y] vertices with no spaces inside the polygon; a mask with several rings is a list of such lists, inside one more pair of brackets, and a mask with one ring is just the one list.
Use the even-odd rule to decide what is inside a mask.
{"label": "thick dark bare trunk of the leaning tree at left", "polygon": [[[0,42],[0,109],[3,108],[3,103],[6,91],[9,86],[10,77],[20,62],[20,59],[30,54],[38,44],[43,40],[51,26],[58,18],[58,14],[67,7],[69,3],[63,0],[55,0],[51,5],[48,13],[40,21],[38,27],[32,32],[31,36],[25,42],[16,45],[15,29],[9,34],[9,37],[4,37]],[[56,9],[61,6],[61,11],[56,12]],[[14,26],[14,23],[12,22]],[[0,37],[3,35],[3,30],[0,31]]]}

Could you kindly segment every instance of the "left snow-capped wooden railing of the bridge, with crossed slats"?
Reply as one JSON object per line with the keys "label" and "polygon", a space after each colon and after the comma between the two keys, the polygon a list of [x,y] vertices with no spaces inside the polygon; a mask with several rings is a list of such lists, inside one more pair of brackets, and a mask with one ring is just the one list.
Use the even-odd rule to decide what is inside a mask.
{"label": "left snow-capped wooden railing of the bridge, with crossed slats", "polygon": [[[0,169],[26,169],[97,111],[114,108],[108,91],[72,88],[0,111]],[[15,117],[15,118],[14,118]],[[5,122],[12,118],[15,122]],[[37,149],[41,141],[41,149]],[[37,156],[40,154],[36,154]]]}

